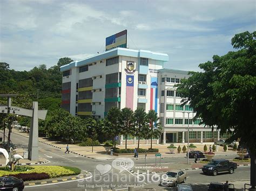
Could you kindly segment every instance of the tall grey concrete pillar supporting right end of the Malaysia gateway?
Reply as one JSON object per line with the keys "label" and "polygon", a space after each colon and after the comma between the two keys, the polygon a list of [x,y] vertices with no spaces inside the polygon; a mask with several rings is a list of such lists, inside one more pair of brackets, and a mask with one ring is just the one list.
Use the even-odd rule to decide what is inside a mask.
{"label": "tall grey concrete pillar supporting right end of the Malaysia gateway", "polygon": [[38,160],[38,102],[33,102],[29,132],[29,159]]}

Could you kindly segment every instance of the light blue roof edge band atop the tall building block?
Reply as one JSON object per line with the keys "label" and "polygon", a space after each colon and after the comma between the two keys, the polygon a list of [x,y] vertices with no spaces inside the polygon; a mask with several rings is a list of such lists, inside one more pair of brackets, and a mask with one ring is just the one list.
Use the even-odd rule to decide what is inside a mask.
{"label": "light blue roof edge band atop the tall building block", "polygon": [[131,56],[131,57],[136,57],[136,58],[148,58],[148,59],[160,60],[160,61],[164,61],[164,62],[169,61],[168,54],[145,51],[142,49],[135,50],[135,49],[117,47],[117,48],[110,49],[109,51],[90,56],[84,60],[73,61],[73,62],[69,63],[68,65],[61,66],[60,72],[63,72],[65,70],[68,70],[73,67],[80,67],[80,66],[86,65],[87,63],[96,62],[99,60],[111,58],[111,57],[118,56],[118,55]]}

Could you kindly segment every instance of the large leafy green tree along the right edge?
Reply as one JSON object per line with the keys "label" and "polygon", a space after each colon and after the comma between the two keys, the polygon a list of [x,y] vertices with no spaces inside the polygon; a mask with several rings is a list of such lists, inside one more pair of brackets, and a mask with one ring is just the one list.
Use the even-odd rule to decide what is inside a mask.
{"label": "large leafy green tree along the right edge", "polygon": [[190,72],[177,91],[183,104],[190,102],[196,116],[221,133],[232,132],[228,142],[240,138],[251,155],[251,185],[255,188],[256,154],[256,32],[235,34],[237,52],[213,56],[199,65],[203,72]]}

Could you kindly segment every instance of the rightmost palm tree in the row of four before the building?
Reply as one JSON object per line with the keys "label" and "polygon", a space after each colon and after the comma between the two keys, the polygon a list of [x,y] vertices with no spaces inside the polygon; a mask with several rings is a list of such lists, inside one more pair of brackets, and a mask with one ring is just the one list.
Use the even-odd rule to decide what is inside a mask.
{"label": "rightmost palm tree in the row of four before the building", "polygon": [[152,138],[159,138],[162,133],[162,128],[159,121],[159,117],[157,116],[157,112],[154,110],[149,110],[147,113],[147,118],[149,118],[149,126],[150,132],[148,134],[148,138],[151,139],[150,148],[152,149]]}

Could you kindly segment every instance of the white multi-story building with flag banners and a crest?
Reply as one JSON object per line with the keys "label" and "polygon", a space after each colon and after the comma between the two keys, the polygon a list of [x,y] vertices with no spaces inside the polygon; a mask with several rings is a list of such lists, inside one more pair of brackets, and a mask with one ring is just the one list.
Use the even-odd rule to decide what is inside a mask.
{"label": "white multi-story building with flag banners and a crest", "polygon": [[[114,48],[81,61],[60,67],[63,72],[62,108],[72,115],[104,118],[111,107],[128,107],[136,110],[155,110],[163,126],[160,142],[184,143],[187,140],[187,112],[189,105],[181,107],[181,97],[174,84],[188,77],[187,71],[164,69],[169,61],[167,54],[128,48]],[[219,132],[198,125],[190,114],[190,139],[192,142],[218,139]],[[128,138],[136,144],[136,138]],[[120,136],[119,143],[123,143]],[[141,140],[140,143],[150,143]],[[153,140],[159,143],[159,140]]]}

